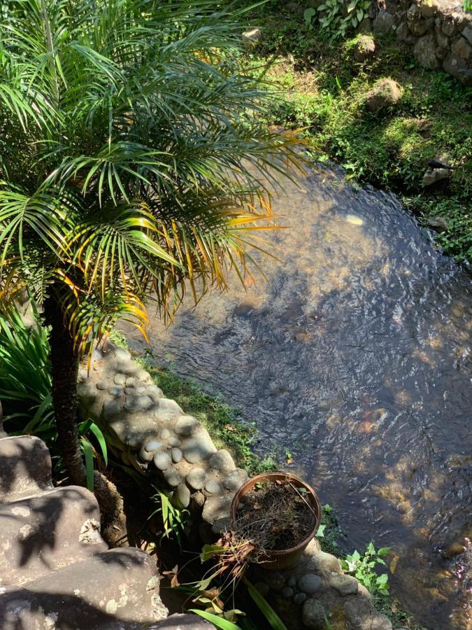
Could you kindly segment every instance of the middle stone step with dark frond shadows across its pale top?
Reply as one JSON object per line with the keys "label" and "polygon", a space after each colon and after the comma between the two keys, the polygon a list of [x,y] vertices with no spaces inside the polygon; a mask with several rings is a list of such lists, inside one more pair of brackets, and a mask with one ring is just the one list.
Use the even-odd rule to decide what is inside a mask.
{"label": "middle stone step with dark frond shadows across its pale top", "polygon": [[99,505],[80,486],[42,491],[0,505],[0,531],[3,586],[21,586],[107,549],[100,535]]}

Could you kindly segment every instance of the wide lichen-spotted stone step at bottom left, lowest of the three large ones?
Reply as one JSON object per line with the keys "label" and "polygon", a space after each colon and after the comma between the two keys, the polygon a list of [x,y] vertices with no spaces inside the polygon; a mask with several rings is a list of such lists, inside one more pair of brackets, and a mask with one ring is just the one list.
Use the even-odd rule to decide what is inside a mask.
{"label": "wide lichen-spotted stone step at bottom left, lowest of the three large ones", "polygon": [[154,628],[166,616],[156,563],[133,547],[110,549],[0,595],[1,630]]}

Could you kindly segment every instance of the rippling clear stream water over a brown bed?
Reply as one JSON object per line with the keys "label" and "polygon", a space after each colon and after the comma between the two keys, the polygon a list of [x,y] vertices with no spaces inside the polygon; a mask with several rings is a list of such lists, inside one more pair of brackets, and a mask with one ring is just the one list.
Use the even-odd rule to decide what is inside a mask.
{"label": "rippling clear stream water over a brown bed", "polygon": [[466,629],[471,276],[395,197],[339,173],[289,185],[275,209],[290,229],[272,233],[268,281],[184,304],[169,329],[155,316],[152,349],[255,421],[259,453],[292,451],[351,549],[392,547],[392,592],[417,622]]}

